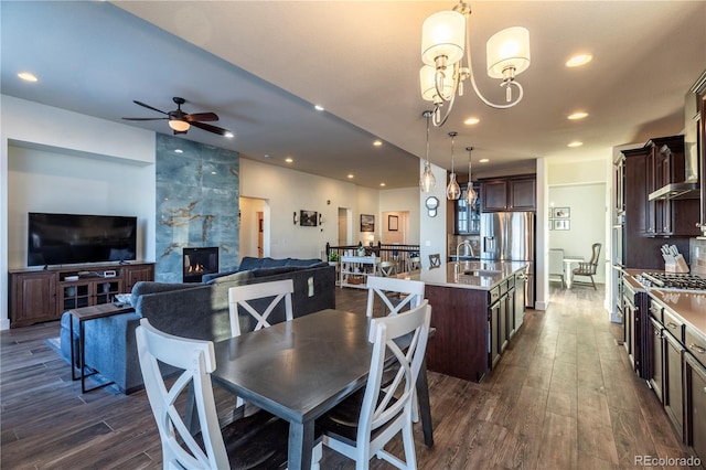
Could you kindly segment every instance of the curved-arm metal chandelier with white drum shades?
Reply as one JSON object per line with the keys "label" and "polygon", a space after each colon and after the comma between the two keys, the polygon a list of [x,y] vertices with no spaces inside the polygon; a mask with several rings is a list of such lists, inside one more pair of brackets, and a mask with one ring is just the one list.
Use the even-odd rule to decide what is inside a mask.
{"label": "curved-arm metal chandelier with white drum shades", "polygon": [[[463,82],[471,81],[475,94],[488,106],[506,109],[522,100],[522,85],[515,77],[530,66],[530,32],[522,26],[506,28],[488,40],[486,70],[492,78],[501,78],[505,88],[504,105],[485,99],[475,85],[471,65],[471,44],[469,19],[471,7],[461,0],[453,11],[440,11],[427,18],[421,26],[421,62],[419,71],[421,97],[434,103],[432,122],[441,127],[453,109],[458,92],[463,96]],[[463,55],[466,53],[466,64]],[[513,99],[512,87],[517,88]],[[448,103],[443,116],[441,107]]]}

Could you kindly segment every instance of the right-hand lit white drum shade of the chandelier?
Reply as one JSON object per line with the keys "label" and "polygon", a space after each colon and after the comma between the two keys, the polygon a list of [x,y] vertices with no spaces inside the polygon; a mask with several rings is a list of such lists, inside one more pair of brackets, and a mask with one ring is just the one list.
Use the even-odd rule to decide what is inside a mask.
{"label": "right-hand lit white drum shade of the chandelier", "polygon": [[503,78],[503,71],[515,68],[520,75],[530,66],[530,31],[526,28],[506,28],[493,34],[485,45],[488,75]]}

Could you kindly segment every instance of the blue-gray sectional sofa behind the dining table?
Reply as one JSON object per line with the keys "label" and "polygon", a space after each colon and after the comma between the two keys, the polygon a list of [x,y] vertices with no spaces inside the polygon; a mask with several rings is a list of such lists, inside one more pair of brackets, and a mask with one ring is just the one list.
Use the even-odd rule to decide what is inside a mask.
{"label": "blue-gray sectional sofa behind the dining table", "polygon": [[[232,273],[204,276],[204,284],[138,282],[131,292],[135,312],[87,321],[85,328],[86,364],[115,382],[126,394],[143,387],[137,356],[135,329],[141,318],[168,333],[200,340],[229,338],[228,288],[244,284],[292,279],[295,317],[335,308],[335,268],[320,259],[243,258]],[[243,316],[242,316],[243,317]],[[284,321],[284,307],[272,312],[275,322]],[[61,320],[62,354],[69,361],[69,321],[74,321],[74,342],[78,327],[68,312]],[[242,331],[252,331],[243,317]],[[168,374],[170,371],[164,370]]]}

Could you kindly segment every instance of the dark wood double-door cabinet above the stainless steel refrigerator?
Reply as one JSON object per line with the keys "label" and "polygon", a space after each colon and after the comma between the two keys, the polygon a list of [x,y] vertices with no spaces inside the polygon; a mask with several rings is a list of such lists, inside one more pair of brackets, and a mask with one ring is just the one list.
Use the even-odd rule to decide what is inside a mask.
{"label": "dark wood double-door cabinet above the stainless steel refrigerator", "polygon": [[536,207],[534,174],[481,181],[482,212],[535,211]]}

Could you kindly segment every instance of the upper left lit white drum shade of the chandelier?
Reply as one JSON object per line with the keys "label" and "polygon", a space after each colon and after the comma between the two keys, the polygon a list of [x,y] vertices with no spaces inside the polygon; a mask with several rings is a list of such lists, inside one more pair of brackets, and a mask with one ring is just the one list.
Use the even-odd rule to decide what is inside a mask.
{"label": "upper left lit white drum shade of the chandelier", "polygon": [[436,66],[436,58],[447,57],[452,65],[463,57],[466,18],[456,11],[440,11],[421,25],[421,62]]}

